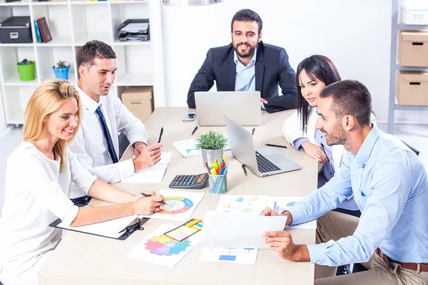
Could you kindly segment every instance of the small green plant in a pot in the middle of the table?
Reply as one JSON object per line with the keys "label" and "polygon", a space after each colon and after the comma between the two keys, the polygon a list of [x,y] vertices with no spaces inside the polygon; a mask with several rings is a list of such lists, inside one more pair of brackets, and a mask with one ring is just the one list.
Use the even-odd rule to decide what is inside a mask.
{"label": "small green plant in a pot in the middle of the table", "polygon": [[210,130],[208,133],[200,135],[196,139],[195,148],[200,150],[202,153],[203,166],[205,167],[205,162],[208,163],[208,166],[211,166],[214,163],[214,160],[223,160],[223,150],[229,145],[228,138],[221,133],[215,133]]}

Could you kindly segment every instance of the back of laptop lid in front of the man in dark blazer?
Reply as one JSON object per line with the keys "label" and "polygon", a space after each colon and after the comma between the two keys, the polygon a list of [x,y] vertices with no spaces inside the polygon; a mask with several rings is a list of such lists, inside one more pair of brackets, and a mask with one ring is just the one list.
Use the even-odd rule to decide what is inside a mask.
{"label": "back of laptop lid in front of the man in dark blazer", "polygon": [[260,91],[195,92],[198,125],[225,125],[225,117],[240,125],[262,125]]}

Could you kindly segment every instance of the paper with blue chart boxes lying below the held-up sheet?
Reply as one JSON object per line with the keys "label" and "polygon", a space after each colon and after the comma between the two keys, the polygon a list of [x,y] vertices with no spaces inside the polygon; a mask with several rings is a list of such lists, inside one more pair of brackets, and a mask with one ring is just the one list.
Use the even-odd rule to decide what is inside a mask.
{"label": "paper with blue chart boxes lying below the held-up sheet", "polygon": [[258,249],[230,249],[227,247],[204,247],[199,261],[255,264]]}

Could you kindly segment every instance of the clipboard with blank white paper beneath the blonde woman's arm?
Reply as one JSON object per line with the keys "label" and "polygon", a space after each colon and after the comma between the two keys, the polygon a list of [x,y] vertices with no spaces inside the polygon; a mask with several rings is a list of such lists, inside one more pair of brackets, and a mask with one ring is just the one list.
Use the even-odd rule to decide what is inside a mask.
{"label": "clipboard with blank white paper beneath the blonde woman's arm", "polygon": [[98,237],[107,237],[109,239],[125,240],[130,237],[133,232],[136,232],[137,230],[142,231],[144,229],[143,224],[148,220],[149,218],[140,216],[128,216],[96,224],[87,224],[86,226],[81,227],[70,227],[63,224],[61,219],[56,219],[54,222],[49,224],[49,227],[81,232],[83,234],[93,234]]}

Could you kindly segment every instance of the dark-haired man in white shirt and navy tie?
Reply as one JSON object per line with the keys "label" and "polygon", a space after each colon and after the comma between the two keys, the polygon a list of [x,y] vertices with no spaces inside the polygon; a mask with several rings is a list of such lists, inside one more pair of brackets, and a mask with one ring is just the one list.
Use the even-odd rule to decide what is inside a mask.
{"label": "dark-haired man in white shirt and navy tie", "polygon": [[[116,76],[116,53],[102,41],[88,41],[77,56],[79,79],[75,86],[81,97],[83,119],[69,145],[82,165],[105,182],[119,182],[161,160],[161,144],[147,146],[148,134],[115,95],[108,95]],[[135,158],[118,162],[118,133],[128,138]],[[88,197],[71,186],[71,199],[86,204]],[[89,198],[90,199],[90,198]]]}

